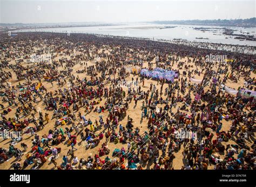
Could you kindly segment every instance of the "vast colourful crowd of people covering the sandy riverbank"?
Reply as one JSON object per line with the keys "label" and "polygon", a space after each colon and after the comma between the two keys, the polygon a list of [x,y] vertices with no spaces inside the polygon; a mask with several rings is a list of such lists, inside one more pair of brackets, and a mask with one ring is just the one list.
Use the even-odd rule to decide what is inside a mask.
{"label": "vast colourful crowd of people covering the sandy riverbank", "polygon": [[[0,38],[0,168],[14,156],[13,169],[255,169],[256,98],[220,86],[255,91],[255,55],[93,34]],[[153,80],[135,66],[179,76]]]}

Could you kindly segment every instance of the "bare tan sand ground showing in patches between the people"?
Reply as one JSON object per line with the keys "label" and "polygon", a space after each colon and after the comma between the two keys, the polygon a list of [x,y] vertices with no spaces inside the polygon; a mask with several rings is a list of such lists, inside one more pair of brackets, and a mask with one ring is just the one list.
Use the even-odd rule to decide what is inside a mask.
{"label": "bare tan sand ground showing in patches between the people", "polygon": [[[64,56],[64,57],[68,57],[68,59],[70,59],[70,56]],[[55,60],[58,60],[58,59],[60,59],[60,58],[61,58],[60,56],[57,56],[57,57],[55,58]],[[15,59],[15,60],[17,60],[17,59]],[[12,60],[11,63],[14,63],[15,60]],[[187,60],[188,60],[188,58],[185,57],[185,58],[183,58],[183,59],[180,59],[179,61],[186,61],[186,63],[187,63]],[[154,61],[153,61],[153,62],[154,62]],[[25,64],[25,63],[22,63],[22,64]],[[88,66],[90,66],[90,65],[92,65],[92,64],[95,64],[95,61],[87,61],[87,64],[88,64]],[[190,69],[196,69],[196,68],[198,68],[199,70],[201,70],[200,67],[196,67],[196,66],[193,64],[193,62],[190,62],[190,63],[188,63],[188,64],[193,65],[193,68],[190,68]],[[154,63],[153,66],[155,67],[156,64]],[[143,67],[147,67],[147,63],[145,63]],[[174,63],[174,67],[173,67],[173,68],[174,68],[174,69],[178,69],[178,68],[177,68],[177,62]],[[63,69],[63,68],[61,68],[61,67],[58,68],[58,70],[62,70],[62,69]],[[90,78],[90,76],[88,76],[88,75],[86,75],[86,74],[78,74],[78,73],[76,73],[76,70],[84,69],[84,66],[80,66],[80,64],[76,64],[72,69],[73,69],[72,74],[75,75],[75,77],[78,75],[80,79],[82,79],[83,77]],[[217,66],[215,66],[214,69],[217,70]],[[16,78],[15,73],[14,73],[11,69],[4,69],[4,70],[11,71],[13,77],[12,77],[11,80],[9,80],[9,82],[11,83],[11,85],[15,85],[15,86],[16,86],[16,85],[18,84],[18,82],[17,82],[17,78]],[[180,70],[180,75],[182,75],[182,71],[183,71],[183,70]],[[100,74],[98,74],[98,76],[100,76]],[[111,75],[111,76],[113,76],[113,75]],[[116,75],[116,76],[117,76],[117,75]],[[201,79],[203,79],[203,76],[204,76],[203,74],[201,74],[200,76],[196,75],[195,78],[201,80]],[[252,76],[255,76],[255,75],[253,74]],[[138,77],[138,75],[132,75],[132,74],[131,74],[130,77],[127,77],[127,78],[126,78],[126,80],[127,80],[127,81],[131,81],[132,77],[134,77],[134,79],[136,80],[136,78]],[[180,76],[180,77],[181,77],[181,76]],[[221,77],[223,77],[223,75],[221,75]],[[20,81],[20,82],[23,83],[23,82],[25,82],[25,80],[24,80],[24,81]],[[38,82],[38,81],[32,81],[32,82]],[[43,85],[46,87],[46,89],[48,90],[48,92],[49,92],[49,91],[52,91],[52,92],[53,92],[54,90],[58,90],[58,89],[59,89],[59,87],[58,87],[58,85],[57,85],[57,82],[53,82],[53,87],[52,87],[51,83],[48,83],[48,82],[46,82],[46,81],[43,81],[42,83],[43,83]],[[142,87],[142,83],[139,83],[139,85],[142,87],[142,90],[147,91],[147,90],[150,88],[150,84],[151,84],[151,83],[153,83],[154,85],[156,85],[157,89],[160,90],[160,84],[157,85],[157,81],[153,81],[153,80],[145,80],[145,85],[144,85],[144,87]],[[227,85],[228,87],[235,88],[235,89],[237,89],[237,88],[240,87],[240,86],[242,87],[243,84],[244,84],[244,78],[242,78],[242,77],[240,78],[240,80],[238,81],[238,83],[234,83],[234,82],[232,82],[231,80],[228,80],[227,83],[226,83],[226,85]],[[68,85],[65,84],[63,88],[67,88],[67,87],[68,87]],[[106,87],[109,87],[109,85],[106,85]],[[166,87],[167,87],[167,84],[164,84],[163,92],[164,92],[164,89],[165,89]],[[127,96],[127,88],[124,88],[124,89],[126,89],[126,96]],[[207,89],[208,89],[208,88],[206,87],[205,90],[207,90]],[[180,93],[180,94],[183,95],[182,93]],[[186,93],[185,93],[185,94],[187,94],[187,90],[186,90]],[[194,95],[192,95],[191,97],[192,97],[192,99],[193,99],[193,98],[194,98]],[[163,95],[163,98],[165,99],[166,96]],[[141,113],[142,113],[142,109],[141,109],[142,101],[143,101],[143,100],[138,100],[138,104],[137,104],[137,106],[135,106],[134,100],[132,100],[131,103],[129,103],[129,109],[127,110],[127,116],[129,115],[129,116],[133,119],[133,121],[134,121],[134,123],[133,123],[134,127],[139,127],[139,128],[140,128],[140,133],[141,133],[141,132],[144,132],[144,131],[147,131],[147,119],[146,119],[146,118],[143,118],[143,120],[140,121]],[[1,103],[2,103],[2,101],[1,101]],[[103,99],[102,102],[101,102],[100,104],[98,104],[97,106],[104,105],[104,103],[105,103],[105,99]],[[3,104],[4,104],[5,107],[8,106],[8,103],[3,103]],[[55,120],[56,120],[55,118],[51,119],[51,116],[52,116],[52,113],[53,113],[53,112],[52,112],[52,111],[46,111],[46,110],[44,110],[44,106],[43,106],[42,104],[43,104],[43,102],[39,102],[38,105],[36,105],[36,106],[35,106],[35,104],[33,104],[33,105],[36,107],[36,109],[38,109],[38,110],[41,109],[41,111],[43,112],[43,114],[44,114],[45,112],[49,113],[49,114],[50,114],[50,115],[49,115],[50,121],[49,121],[48,124],[45,125],[45,127],[44,127],[43,130],[41,130],[41,131],[39,131],[39,132],[36,132],[36,133],[37,133],[38,135],[40,135],[40,136],[42,136],[42,135],[44,135],[44,134],[48,135],[48,131],[49,131],[50,129],[53,129],[53,126],[55,125]],[[162,105],[162,106],[164,106],[164,105]],[[181,106],[181,104],[179,103],[178,106]],[[178,106],[177,106],[177,107],[178,107]],[[158,107],[160,107],[160,106],[158,106]],[[173,109],[172,109],[172,112],[176,112],[176,111],[177,111],[177,107],[176,107],[176,108],[173,108]],[[84,110],[85,110],[84,108],[80,108],[80,109],[79,109],[79,111],[80,111],[82,114],[85,114]],[[12,111],[9,112],[9,113],[6,115],[6,118],[8,119],[9,117],[14,117],[14,116],[15,116],[15,111],[16,111],[16,107],[12,107]],[[72,107],[71,107],[71,111],[72,111]],[[1,110],[1,112],[2,112],[2,110]],[[186,112],[186,111],[184,111],[184,112]],[[188,113],[190,113],[190,112],[188,112]],[[78,112],[77,112],[77,114],[78,114]],[[99,119],[99,115],[103,116],[103,119],[104,119],[104,121],[105,121],[105,119],[106,119],[106,117],[107,117],[107,113],[106,113],[106,112],[105,112],[105,113],[100,113],[100,114],[98,114],[97,112],[91,111],[89,114],[86,115],[86,117],[87,117],[87,118],[90,118],[91,121],[94,122],[96,119],[97,119],[97,120]],[[120,121],[120,124],[122,124],[123,126],[125,126],[126,123],[127,123],[127,116],[126,116],[125,119],[123,119],[122,121]],[[29,117],[31,117],[31,116],[29,116]],[[36,117],[37,117],[37,118],[39,117],[39,114],[38,114],[38,113],[36,113]],[[27,118],[27,117],[26,117],[26,118]],[[77,116],[77,118],[78,118],[78,116]],[[23,119],[23,118],[22,118],[22,119]],[[77,122],[78,122],[78,119],[76,120],[75,123],[77,123]],[[29,126],[32,126],[32,124],[30,124]],[[223,131],[229,130],[230,126],[231,126],[231,121],[223,120],[223,128],[222,128]],[[58,126],[58,127],[60,127],[60,126]],[[65,127],[62,126],[62,128],[64,129]],[[99,130],[99,131],[100,131],[100,130]],[[211,131],[211,130],[210,130],[210,131]],[[213,134],[215,134],[215,132],[213,132]],[[214,135],[214,138],[215,138],[215,135]],[[214,138],[213,138],[213,139],[214,139]],[[31,140],[32,140],[32,139],[33,139],[33,137],[30,135],[30,133],[23,135],[23,141],[22,141],[22,142],[25,142],[26,145],[29,146],[29,148],[28,148],[28,150],[27,150],[26,152],[24,152],[24,155],[22,156],[22,161],[21,161],[21,162],[22,162],[22,166],[23,166],[23,161],[25,160],[26,154],[28,154],[28,153],[30,152],[30,150],[31,150],[31,147],[32,147],[32,141],[31,141]],[[249,139],[249,140],[247,140],[247,141],[248,141],[248,144],[251,144],[254,140]],[[89,148],[89,149],[86,149],[86,148],[85,148],[85,143],[80,139],[80,136],[77,136],[77,142],[78,142],[78,143],[77,143],[77,145],[76,145],[75,147],[78,148],[78,150],[75,151],[75,156],[78,156],[78,159],[80,159],[80,158],[82,158],[82,157],[84,157],[84,159],[87,159],[88,156],[94,156],[95,154],[98,154],[98,153],[99,153],[98,150],[99,150],[100,146],[102,145],[102,143],[105,142],[105,137],[104,137],[103,140],[100,141],[100,143],[99,143],[99,145],[98,145],[97,147],[92,148],[92,149],[91,149],[91,148]],[[228,143],[233,143],[233,142],[234,142],[233,140],[230,140]],[[8,147],[9,147],[9,143],[10,143],[10,139],[6,139],[6,140],[3,140],[3,139],[2,139],[2,140],[0,140],[0,147],[8,148]],[[226,145],[226,144],[227,144],[227,143],[224,142],[224,145]],[[20,145],[21,145],[21,142],[18,142],[15,147],[21,148]],[[67,147],[67,145],[64,145],[64,143],[60,143],[57,147],[61,147],[61,148],[62,148],[62,151],[60,152],[59,157],[58,157],[58,159],[56,160],[56,161],[57,161],[57,164],[60,165],[60,164],[63,162],[63,161],[62,161],[63,155],[66,155],[66,154],[68,153],[68,150],[69,150],[71,147]],[[109,156],[110,156],[111,159],[112,159],[112,152],[113,152],[114,148],[119,148],[119,149],[120,149],[120,148],[124,147],[125,149],[127,149],[127,145],[122,145],[121,143],[117,143],[117,144],[115,145],[113,142],[112,142],[112,143],[109,142],[109,143],[108,143],[108,147],[110,148],[110,154],[109,154]],[[23,149],[21,148],[21,150],[23,150]],[[172,166],[173,166],[174,169],[180,169],[181,166],[184,166],[184,163],[185,163],[185,162],[184,162],[183,156],[182,156],[182,154],[181,154],[182,152],[183,152],[183,146],[181,146],[181,149],[179,150],[179,152],[177,152],[177,153],[174,154],[174,155],[176,156],[176,159],[173,160],[173,164],[172,164]],[[161,153],[161,152],[160,152],[160,153]],[[50,156],[48,156],[48,158],[49,158],[49,157],[50,157]],[[68,156],[68,157],[70,158],[70,156]],[[223,158],[224,155],[220,155],[220,157]],[[103,156],[103,157],[101,157],[101,158],[104,159],[105,156]],[[0,169],[12,169],[12,168],[11,168],[11,164],[14,163],[14,162],[16,162],[16,161],[17,161],[17,160],[16,160],[15,157],[13,156],[13,157],[11,157],[11,159],[9,159],[7,162],[1,163],[1,164],[0,164]],[[32,165],[33,165],[33,164],[32,164]],[[26,169],[31,169],[31,168],[32,168],[32,165],[29,166],[29,167],[27,167]],[[57,165],[57,166],[58,166],[58,165]],[[76,166],[78,166],[78,164],[77,164]],[[75,167],[76,167],[76,166],[75,166]],[[143,168],[145,168],[145,169],[150,169],[150,168],[152,168],[152,167],[153,167],[153,164],[152,164],[152,163],[143,164]],[[213,167],[214,167],[213,165],[210,165],[210,166],[208,167],[208,169],[213,169]],[[56,169],[56,168],[54,167],[54,165],[53,165],[50,161],[47,161],[46,163],[43,164],[43,166],[41,167],[41,169]]]}

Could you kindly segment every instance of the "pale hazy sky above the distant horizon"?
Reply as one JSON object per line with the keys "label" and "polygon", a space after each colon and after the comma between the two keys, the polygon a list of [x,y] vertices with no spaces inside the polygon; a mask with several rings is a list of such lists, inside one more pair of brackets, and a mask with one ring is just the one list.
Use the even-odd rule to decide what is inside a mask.
{"label": "pale hazy sky above the distant horizon", "polygon": [[132,22],[256,17],[254,0],[0,0],[0,23]]}

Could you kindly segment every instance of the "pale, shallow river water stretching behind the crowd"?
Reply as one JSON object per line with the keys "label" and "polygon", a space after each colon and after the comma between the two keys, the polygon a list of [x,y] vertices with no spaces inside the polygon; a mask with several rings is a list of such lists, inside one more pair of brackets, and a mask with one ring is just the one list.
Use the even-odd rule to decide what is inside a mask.
{"label": "pale, shallow river water stretching behind the crowd", "polygon": [[[164,28],[164,26],[176,26],[175,28]],[[195,27],[211,28],[211,31],[194,30]],[[123,37],[142,37],[150,39],[185,39],[188,41],[199,42],[212,42],[218,44],[232,44],[232,45],[248,45],[256,46],[256,41],[240,41],[234,39],[233,36],[222,34],[224,30],[222,26],[202,26],[202,25],[170,25],[170,24],[123,24],[123,25],[111,25],[111,26],[85,26],[85,27],[56,27],[56,28],[31,28],[22,29],[15,32],[60,32],[66,33],[93,33],[93,34],[105,34],[105,35],[117,35]],[[232,28],[234,33],[242,34],[247,32],[250,35],[256,36],[255,27],[227,27]],[[242,32],[242,33],[241,33]],[[208,38],[208,39],[196,39],[196,38]],[[226,39],[227,38],[227,39]]]}

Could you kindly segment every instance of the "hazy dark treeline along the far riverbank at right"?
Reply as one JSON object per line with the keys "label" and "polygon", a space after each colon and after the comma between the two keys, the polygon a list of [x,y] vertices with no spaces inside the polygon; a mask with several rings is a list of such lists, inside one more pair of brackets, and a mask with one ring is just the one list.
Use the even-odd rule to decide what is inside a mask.
{"label": "hazy dark treeline along the far riverbank at right", "polygon": [[174,21],[150,21],[155,24],[179,24],[179,25],[214,25],[214,26],[239,26],[255,27],[255,17],[248,19],[206,19],[206,20],[174,20]]}

